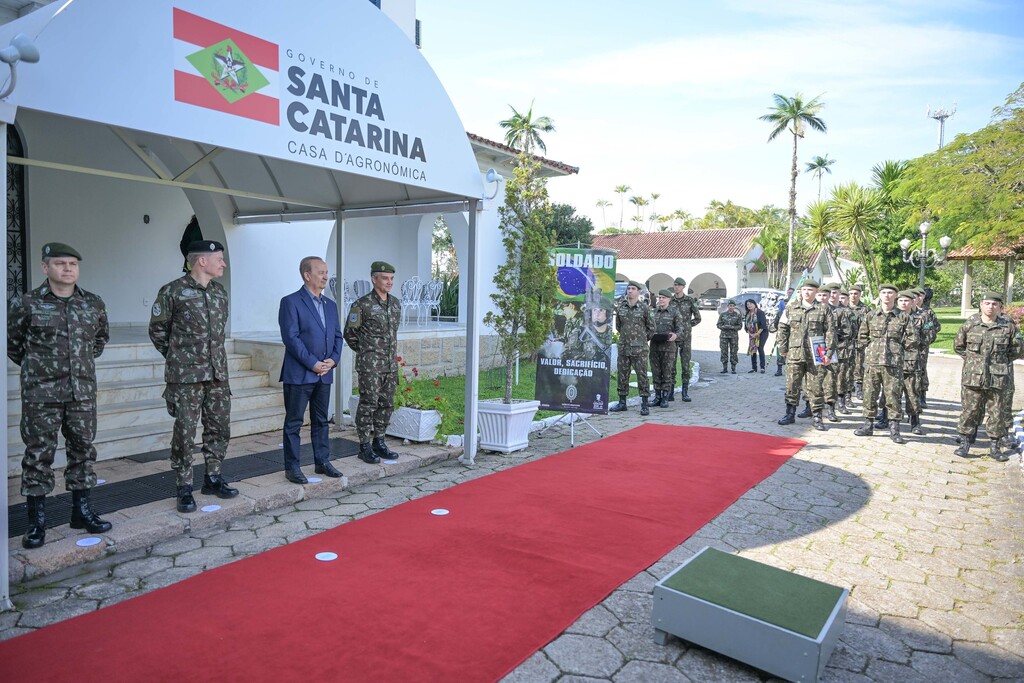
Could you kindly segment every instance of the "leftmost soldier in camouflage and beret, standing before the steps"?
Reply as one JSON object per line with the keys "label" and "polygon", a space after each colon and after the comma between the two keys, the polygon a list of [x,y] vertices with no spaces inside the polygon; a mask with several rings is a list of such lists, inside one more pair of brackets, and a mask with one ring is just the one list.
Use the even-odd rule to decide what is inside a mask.
{"label": "leftmost soldier in camouflage and beret, standing before the steps", "polygon": [[95,358],[110,332],[102,299],[77,286],[81,259],[68,245],[43,246],[40,266],[46,282],[11,299],[7,308],[7,357],[22,367],[22,495],[29,516],[25,548],[39,548],[46,541],[46,496],[53,490],[58,431],[67,441],[71,527],[90,533],[112,527],[89,503],[96,485]]}

